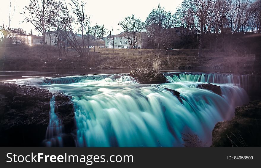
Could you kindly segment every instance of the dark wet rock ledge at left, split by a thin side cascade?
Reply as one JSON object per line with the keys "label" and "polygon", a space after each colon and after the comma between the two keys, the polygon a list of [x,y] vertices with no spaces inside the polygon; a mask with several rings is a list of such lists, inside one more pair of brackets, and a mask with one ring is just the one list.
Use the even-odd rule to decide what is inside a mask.
{"label": "dark wet rock ledge at left, split by a thin side cascade", "polygon": [[[62,93],[55,95],[56,114],[69,134],[74,129],[73,102]],[[52,96],[45,89],[0,82],[0,146],[43,146]],[[72,144],[72,137],[65,139],[64,146]]]}

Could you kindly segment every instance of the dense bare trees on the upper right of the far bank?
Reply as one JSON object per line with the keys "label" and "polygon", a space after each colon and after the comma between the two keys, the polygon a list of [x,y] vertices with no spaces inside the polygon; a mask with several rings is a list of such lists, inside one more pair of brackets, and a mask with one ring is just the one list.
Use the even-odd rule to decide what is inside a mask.
{"label": "dense bare trees on the upper right of the far bank", "polygon": [[224,34],[228,27],[231,27],[232,33],[261,31],[260,0],[184,0],[177,13],[181,21],[179,25],[190,29],[193,34],[200,34],[199,58],[204,34],[208,35],[209,39],[211,33],[216,34],[217,42],[218,33],[221,33],[224,50]]}

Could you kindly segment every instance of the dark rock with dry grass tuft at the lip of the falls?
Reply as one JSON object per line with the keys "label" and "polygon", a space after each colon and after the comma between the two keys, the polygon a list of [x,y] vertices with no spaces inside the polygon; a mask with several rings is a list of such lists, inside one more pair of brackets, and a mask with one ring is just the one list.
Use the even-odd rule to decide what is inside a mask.
{"label": "dark rock with dry grass tuft at the lip of the falls", "polygon": [[137,81],[142,84],[160,84],[166,82],[164,75],[157,73],[154,69],[132,70],[130,71],[130,76],[136,78]]}

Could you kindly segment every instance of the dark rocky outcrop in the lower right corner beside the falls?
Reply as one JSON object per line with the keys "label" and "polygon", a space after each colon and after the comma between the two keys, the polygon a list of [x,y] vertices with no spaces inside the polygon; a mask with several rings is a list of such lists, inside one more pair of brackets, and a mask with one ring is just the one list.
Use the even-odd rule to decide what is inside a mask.
{"label": "dark rocky outcrop in the lower right corner beside the falls", "polygon": [[261,100],[235,109],[235,117],[218,122],[212,131],[212,147],[261,147]]}

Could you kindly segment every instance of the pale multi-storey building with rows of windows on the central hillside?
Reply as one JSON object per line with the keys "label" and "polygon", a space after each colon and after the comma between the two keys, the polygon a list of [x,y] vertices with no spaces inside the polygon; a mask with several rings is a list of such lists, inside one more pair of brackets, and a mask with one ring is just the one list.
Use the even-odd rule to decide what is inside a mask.
{"label": "pale multi-storey building with rows of windows on the central hillside", "polygon": [[[133,39],[133,38],[132,38]],[[137,42],[134,44],[133,47],[140,47],[144,48],[147,46],[148,42],[148,35],[146,32],[141,32],[139,37],[137,37]],[[143,42],[143,43],[142,43]],[[143,44],[143,45],[142,45]],[[121,32],[117,35],[108,35],[105,37],[105,47],[106,48],[128,48],[130,47],[130,43],[126,37],[124,37],[124,32]]]}

